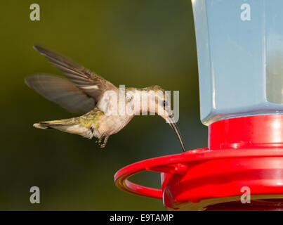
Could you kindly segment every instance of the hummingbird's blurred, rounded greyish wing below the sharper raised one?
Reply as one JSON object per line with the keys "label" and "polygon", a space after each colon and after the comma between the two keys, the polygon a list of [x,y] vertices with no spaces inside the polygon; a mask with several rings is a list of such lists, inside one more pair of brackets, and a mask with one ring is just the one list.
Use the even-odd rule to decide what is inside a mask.
{"label": "hummingbird's blurred, rounded greyish wing below the sharper raised one", "polygon": [[50,101],[61,105],[71,113],[87,113],[95,107],[95,101],[84,94],[74,83],[52,75],[27,77],[25,83]]}

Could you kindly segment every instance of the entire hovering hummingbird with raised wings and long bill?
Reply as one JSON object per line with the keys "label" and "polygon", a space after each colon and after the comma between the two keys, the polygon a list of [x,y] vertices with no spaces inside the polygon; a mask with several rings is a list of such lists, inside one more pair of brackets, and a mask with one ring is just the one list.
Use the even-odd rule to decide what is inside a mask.
{"label": "entire hovering hummingbird with raised wings and long bill", "polygon": [[[55,68],[65,74],[67,79],[48,74],[32,75],[25,78],[27,86],[71,113],[81,114],[79,117],[69,119],[37,122],[33,125],[34,127],[57,129],[88,139],[96,137],[100,148],[104,148],[112,134],[119,132],[135,115],[142,112],[143,109],[140,105],[143,105],[141,103],[143,98],[133,98],[133,96],[142,96],[144,91],[152,91],[153,96],[150,97],[145,110],[147,113],[155,113],[163,117],[169,123],[176,132],[180,146],[185,152],[182,136],[173,120],[171,105],[161,86],[154,85],[141,89],[126,88],[123,96],[125,106],[133,109],[133,112],[113,113],[114,108],[119,107],[121,103],[117,98],[107,95],[107,93],[121,96],[117,86],[55,51],[38,45],[34,45],[34,49],[50,60]],[[133,105],[136,103],[140,104],[134,108]],[[154,107],[150,107],[150,104]]]}

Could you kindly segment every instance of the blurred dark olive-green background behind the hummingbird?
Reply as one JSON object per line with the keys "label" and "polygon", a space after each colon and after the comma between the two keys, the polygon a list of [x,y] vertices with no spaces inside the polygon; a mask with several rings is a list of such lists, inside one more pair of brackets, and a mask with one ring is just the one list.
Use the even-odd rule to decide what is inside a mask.
{"label": "blurred dark olive-green background behind the hummingbird", "polygon": [[[32,49],[42,44],[117,86],[179,90],[185,145],[206,147],[190,0],[36,1],[40,21],[29,20],[32,3],[0,3],[0,210],[164,210],[162,200],[120,191],[113,179],[133,162],[181,152],[162,118],[135,117],[101,150],[95,139],[32,127],[73,115],[29,89],[24,78],[62,75]],[[154,172],[131,181],[160,188]],[[39,186],[40,204],[29,203],[31,186]]]}

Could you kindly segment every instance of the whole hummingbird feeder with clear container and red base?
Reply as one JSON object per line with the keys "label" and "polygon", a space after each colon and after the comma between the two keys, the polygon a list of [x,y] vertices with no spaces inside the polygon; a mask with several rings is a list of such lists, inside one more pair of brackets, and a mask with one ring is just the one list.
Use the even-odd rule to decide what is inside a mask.
{"label": "whole hummingbird feeder with clear container and red base", "polygon": [[[168,210],[283,210],[283,1],[192,0],[208,148],[136,162],[115,184]],[[133,184],[161,173],[162,189]]]}

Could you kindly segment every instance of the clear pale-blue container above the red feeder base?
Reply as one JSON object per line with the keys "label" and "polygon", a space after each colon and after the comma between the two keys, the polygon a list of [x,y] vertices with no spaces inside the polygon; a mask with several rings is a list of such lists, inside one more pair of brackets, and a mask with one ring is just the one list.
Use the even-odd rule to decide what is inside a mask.
{"label": "clear pale-blue container above the red feeder base", "polygon": [[283,0],[192,0],[201,120],[283,113]]}

